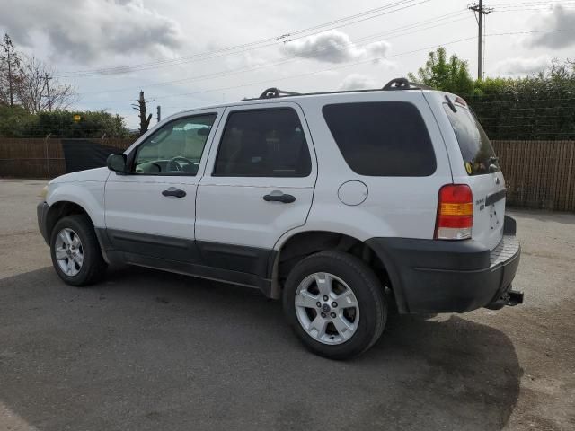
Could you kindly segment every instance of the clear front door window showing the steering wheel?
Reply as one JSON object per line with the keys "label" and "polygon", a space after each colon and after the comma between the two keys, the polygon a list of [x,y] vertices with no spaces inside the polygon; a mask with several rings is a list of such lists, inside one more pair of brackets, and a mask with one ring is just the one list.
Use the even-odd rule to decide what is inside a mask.
{"label": "clear front door window showing the steering wheel", "polygon": [[196,175],[217,114],[176,119],[137,148],[135,169],[147,175]]}

